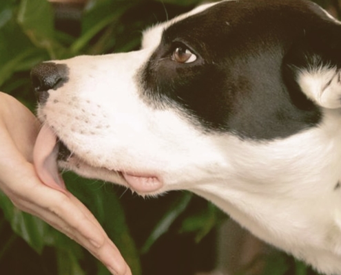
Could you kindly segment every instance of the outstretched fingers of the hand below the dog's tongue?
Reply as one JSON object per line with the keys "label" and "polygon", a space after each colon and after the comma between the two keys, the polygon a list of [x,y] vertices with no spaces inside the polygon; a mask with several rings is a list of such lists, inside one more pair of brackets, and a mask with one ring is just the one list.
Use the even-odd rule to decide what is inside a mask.
{"label": "outstretched fingers of the hand below the dog's tongue", "polygon": [[[31,178],[32,179],[32,178]],[[25,197],[13,199],[21,210],[43,219],[57,230],[86,248],[112,274],[130,275],[130,268],[121,253],[105,234],[93,214],[69,192],[64,194],[43,184],[25,188]]]}

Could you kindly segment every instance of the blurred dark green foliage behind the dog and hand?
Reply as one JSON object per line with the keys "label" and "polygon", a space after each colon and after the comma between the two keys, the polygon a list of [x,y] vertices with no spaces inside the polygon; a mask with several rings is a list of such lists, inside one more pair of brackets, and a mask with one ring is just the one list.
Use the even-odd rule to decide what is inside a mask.
{"label": "blurred dark green foliage behind the dog and hand", "polygon": [[[37,63],[79,54],[136,50],[147,26],[191,10],[200,2],[89,0],[84,5],[52,5],[45,0],[1,0],[0,90],[34,111],[29,74]],[[338,1],[316,2],[340,15]],[[64,177],[68,189],[99,219],[134,275],[194,275],[214,270],[216,232],[227,217],[211,203],[188,192],[142,199],[112,184],[72,173]],[[276,250],[254,259],[238,274],[256,275],[251,270],[259,261],[262,270],[257,274],[317,274]],[[74,241],[14,208],[0,192],[0,274],[109,272]]]}

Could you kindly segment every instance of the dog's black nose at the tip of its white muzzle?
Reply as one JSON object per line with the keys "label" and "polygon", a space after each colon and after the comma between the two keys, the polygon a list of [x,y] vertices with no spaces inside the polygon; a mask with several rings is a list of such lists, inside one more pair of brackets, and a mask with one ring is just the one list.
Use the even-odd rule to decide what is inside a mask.
{"label": "dog's black nose at the tip of its white muzzle", "polygon": [[68,67],[65,64],[41,63],[31,70],[31,81],[39,102],[48,100],[49,90],[56,90],[68,81]]}

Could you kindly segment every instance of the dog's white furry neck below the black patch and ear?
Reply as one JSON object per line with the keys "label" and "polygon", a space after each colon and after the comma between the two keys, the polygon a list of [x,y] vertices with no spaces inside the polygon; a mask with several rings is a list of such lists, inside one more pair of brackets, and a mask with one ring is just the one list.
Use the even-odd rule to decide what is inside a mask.
{"label": "dog's white furry neck below the black patch and ear", "polygon": [[[341,255],[341,127],[335,125],[340,125],[340,110],[325,111],[324,118],[318,127],[282,140],[234,140],[229,144],[229,172],[192,192],[298,258],[312,258],[311,246],[327,247],[326,253],[334,254],[337,261]],[[219,180],[224,177],[226,181]]]}

